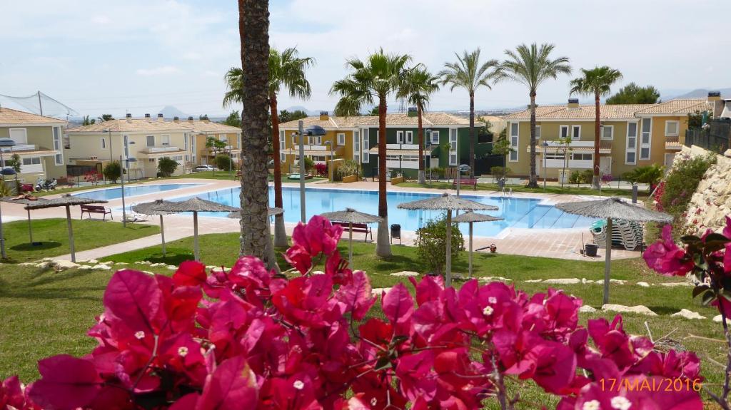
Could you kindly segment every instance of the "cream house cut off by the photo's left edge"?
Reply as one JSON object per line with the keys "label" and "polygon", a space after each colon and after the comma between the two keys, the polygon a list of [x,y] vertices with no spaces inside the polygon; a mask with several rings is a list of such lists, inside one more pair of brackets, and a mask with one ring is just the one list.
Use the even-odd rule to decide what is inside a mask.
{"label": "cream house cut off by the photo's left edge", "polygon": [[38,178],[66,176],[61,147],[67,121],[0,107],[0,138],[10,138],[13,147],[3,147],[3,168],[9,167],[13,154],[20,156],[20,182],[34,183]]}

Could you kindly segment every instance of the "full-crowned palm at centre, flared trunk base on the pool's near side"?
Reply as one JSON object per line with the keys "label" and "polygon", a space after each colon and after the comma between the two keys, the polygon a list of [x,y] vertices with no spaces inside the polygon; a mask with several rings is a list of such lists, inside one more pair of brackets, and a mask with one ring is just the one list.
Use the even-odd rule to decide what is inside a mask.
{"label": "full-crowned palm at centre, flared trunk base on the pool's near side", "polygon": [[330,94],[340,96],[336,111],[346,115],[358,115],[363,105],[378,101],[378,214],[383,220],[378,224],[376,255],[382,257],[391,255],[386,201],[386,98],[401,87],[409,61],[410,55],[386,54],[383,49],[369,55],[366,61],[353,58],[346,63],[352,73],[330,88]]}

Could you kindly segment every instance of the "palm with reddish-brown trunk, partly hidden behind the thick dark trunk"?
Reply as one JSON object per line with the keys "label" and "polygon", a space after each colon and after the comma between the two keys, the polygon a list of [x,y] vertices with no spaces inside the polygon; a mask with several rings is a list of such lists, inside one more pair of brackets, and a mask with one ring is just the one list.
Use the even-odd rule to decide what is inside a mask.
{"label": "palm with reddish-brown trunk, partly hidden behind the thick dark trunk", "polygon": [[[274,160],[274,206],[281,208],[281,161],[279,158],[279,111],[277,109],[277,95],[282,88],[292,97],[310,98],[311,88],[305,71],[314,64],[312,58],[299,58],[296,47],[287,48],[281,53],[275,48],[269,50],[269,111],[272,121],[272,155]],[[241,69],[232,67],[224,76],[229,90],[224,95],[224,107],[232,103],[240,103],[240,94],[237,93],[243,84]],[[284,215],[274,217],[274,246],[287,246],[287,232],[284,230]]]}

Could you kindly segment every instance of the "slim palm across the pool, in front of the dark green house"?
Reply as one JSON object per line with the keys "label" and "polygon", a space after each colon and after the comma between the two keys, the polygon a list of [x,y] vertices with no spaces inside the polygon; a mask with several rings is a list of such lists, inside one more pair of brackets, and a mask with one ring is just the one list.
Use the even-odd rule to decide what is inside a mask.
{"label": "slim palm across the pool, in front of the dark green house", "polygon": [[417,109],[419,116],[419,128],[417,136],[419,138],[419,183],[424,185],[425,172],[424,172],[424,128],[422,126],[422,115],[424,109],[429,104],[429,96],[431,93],[435,93],[439,90],[439,76],[432,75],[427,71],[426,67],[419,64],[413,69],[410,69],[406,73],[404,82],[401,84],[401,88],[398,90],[396,98],[406,98],[409,104],[412,104]]}

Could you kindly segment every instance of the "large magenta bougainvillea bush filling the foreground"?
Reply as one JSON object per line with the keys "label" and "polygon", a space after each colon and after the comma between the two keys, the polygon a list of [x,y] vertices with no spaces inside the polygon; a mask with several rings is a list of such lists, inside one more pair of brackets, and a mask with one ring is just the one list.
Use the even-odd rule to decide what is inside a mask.
{"label": "large magenta bougainvillea bush filling the foreground", "polygon": [[[96,348],[40,360],[25,389],[7,379],[0,408],[512,409],[512,379],[560,410],[702,409],[696,355],[656,352],[619,316],[583,327],[580,299],[560,290],[431,276],[374,296],[341,260],[341,234],[322,217],[298,225],[287,274],[251,257],[210,274],[192,261],[172,277],[117,271],[88,332]],[[666,379],[686,388],[649,388]]]}

